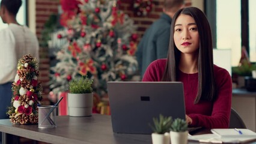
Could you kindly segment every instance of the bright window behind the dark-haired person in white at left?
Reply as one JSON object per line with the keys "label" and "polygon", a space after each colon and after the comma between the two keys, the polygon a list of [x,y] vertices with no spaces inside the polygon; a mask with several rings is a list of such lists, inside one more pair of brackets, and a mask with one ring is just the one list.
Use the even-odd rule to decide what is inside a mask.
{"label": "bright window behind the dark-haired person in white at left", "polygon": [[[1,2],[1,0],[0,0]],[[17,22],[20,25],[26,25],[26,0],[22,0],[22,6],[20,7],[19,12],[17,13]],[[1,19],[1,18],[0,18]],[[2,19],[0,20],[0,29],[7,28],[7,24],[2,22]]]}

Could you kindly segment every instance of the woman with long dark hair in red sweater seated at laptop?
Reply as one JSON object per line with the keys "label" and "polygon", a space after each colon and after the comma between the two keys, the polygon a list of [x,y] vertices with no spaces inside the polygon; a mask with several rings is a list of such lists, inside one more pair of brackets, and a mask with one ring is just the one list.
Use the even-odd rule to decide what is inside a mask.
{"label": "woman with long dark hair in red sweater seated at laptop", "polygon": [[167,59],[152,62],[144,82],[183,82],[189,127],[228,128],[232,81],[213,64],[212,33],[204,13],[195,7],[175,14]]}

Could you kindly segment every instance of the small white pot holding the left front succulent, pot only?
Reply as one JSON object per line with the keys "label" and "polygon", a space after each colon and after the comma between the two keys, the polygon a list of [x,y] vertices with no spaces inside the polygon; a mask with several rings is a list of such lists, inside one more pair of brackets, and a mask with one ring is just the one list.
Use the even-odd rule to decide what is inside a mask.
{"label": "small white pot holding the left front succulent, pot only", "polygon": [[170,143],[169,133],[165,133],[165,134],[152,133],[151,137],[152,137],[153,144],[169,144]]}

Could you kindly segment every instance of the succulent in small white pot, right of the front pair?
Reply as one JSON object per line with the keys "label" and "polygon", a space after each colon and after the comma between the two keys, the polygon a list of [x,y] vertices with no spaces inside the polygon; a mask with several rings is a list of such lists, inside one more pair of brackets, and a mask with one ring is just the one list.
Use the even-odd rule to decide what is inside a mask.
{"label": "succulent in small white pot, right of the front pair", "polygon": [[187,143],[187,122],[184,119],[176,118],[171,124],[170,137],[172,144]]}

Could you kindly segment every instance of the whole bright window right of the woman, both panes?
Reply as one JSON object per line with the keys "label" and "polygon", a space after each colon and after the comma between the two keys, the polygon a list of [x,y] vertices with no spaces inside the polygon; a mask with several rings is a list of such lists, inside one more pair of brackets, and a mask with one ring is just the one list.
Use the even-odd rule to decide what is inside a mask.
{"label": "whole bright window right of the woman, both panes", "polygon": [[[213,37],[216,37],[217,49],[231,49],[233,67],[239,64],[242,45],[246,46],[250,61],[256,62],[256,1],[213,1],[216,1],[216,35]],[[205,2],[207,5],[209,0]]]}

